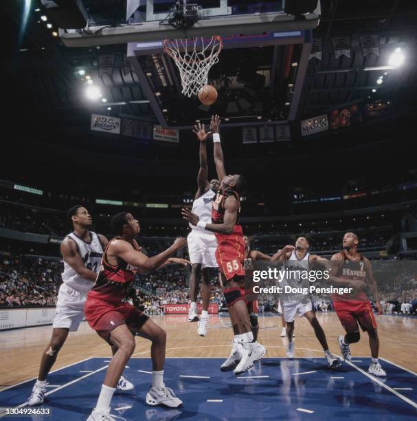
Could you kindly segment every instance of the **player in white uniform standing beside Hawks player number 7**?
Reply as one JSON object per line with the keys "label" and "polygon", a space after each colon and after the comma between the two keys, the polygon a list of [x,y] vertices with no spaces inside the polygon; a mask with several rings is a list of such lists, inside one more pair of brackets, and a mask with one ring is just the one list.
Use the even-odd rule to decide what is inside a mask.
{"label": "player in white uniform standing beside Hawks player number 7", "polygon": [[[335,368],[339,367],[340,361],[330,354],[326,334],[324,334],[324,330],[313,310],[311,296],[310,294],[299,292],[302,291],[301,288],[306,288],[308,291],[310,286],[309,277],[303,276],[303,272],[309,274],[313,262],[320,260],[326,261],[323,257],[311,255],[308,252],[309,247],[310,245],[306,237],[299,237],[295,241],[295,247],[285,246],[279,253],[279,256],[277,256],[278,260],[285,262],[285,268],[288,270],[288,274],[284,277],[280,285],[284,288],[284,292],[280,294],[280,302],[286,321],[286,336],[288,336],[286,356],[288,358],[294,358],[295,343],[293,341],[293,332],[295,315],[298,313],[300,316],[304,316],[313,327],[315,336],[323,347],[328,366]],[[293,290],[291,292],[285,292],[285,287],[291,287]],[[295,290],[296,288],[297,290]]]}

